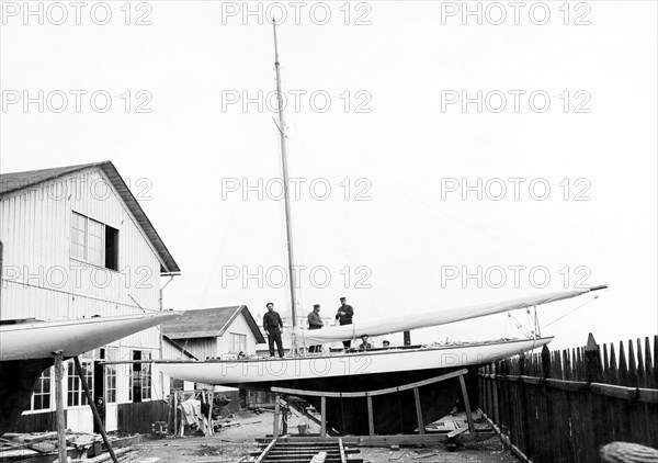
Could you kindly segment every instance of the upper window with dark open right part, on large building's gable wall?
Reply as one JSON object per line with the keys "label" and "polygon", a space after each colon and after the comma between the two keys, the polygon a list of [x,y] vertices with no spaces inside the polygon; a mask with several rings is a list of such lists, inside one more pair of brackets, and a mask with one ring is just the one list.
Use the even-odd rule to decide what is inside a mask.
{"label": "upper window with dark open right part, on large building's gable wall", "polygon": [[94,266],[118,270],[118,230],[73,212],[71,257]]}

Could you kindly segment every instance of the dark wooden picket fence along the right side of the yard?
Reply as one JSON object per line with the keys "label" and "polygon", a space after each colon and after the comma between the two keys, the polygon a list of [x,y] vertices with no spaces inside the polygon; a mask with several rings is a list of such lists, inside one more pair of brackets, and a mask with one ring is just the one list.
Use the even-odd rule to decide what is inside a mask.
{"label": "dark wooden picket fence along the right side of the yard", "polygon": [[586,347],[485,366],[480,408],[524,461],[599,462],[612,441],[658,448],[658,336],[653,345],[615,351],[590,334]]}

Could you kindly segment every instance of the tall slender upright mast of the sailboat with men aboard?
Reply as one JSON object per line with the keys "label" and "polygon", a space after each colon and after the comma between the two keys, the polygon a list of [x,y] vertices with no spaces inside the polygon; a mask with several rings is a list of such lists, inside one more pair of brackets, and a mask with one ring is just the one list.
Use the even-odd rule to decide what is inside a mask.
{"label": "tall slender upright mast of the sailboat with men aboard", "polygon": [[288,274],[291,280],[291,310],[293,316],[293,328],[297,326],[297,287],[296,274],[294,272],[295,259],[293,255],[293,223],[291,217],[291,195],[288,192],[287,172],[287,147],[285,136],[285,121],[283,118],[283,97],[281,93],[281,70],[279,69],[279,45],[276,43],[276,20],[272,19],[274,27],[274,69],[276,69],[276,102],[279,104],[279,136],[281,139],[281,167],[283,170],[283,200],[285,205],[285,232],[287,237]]}

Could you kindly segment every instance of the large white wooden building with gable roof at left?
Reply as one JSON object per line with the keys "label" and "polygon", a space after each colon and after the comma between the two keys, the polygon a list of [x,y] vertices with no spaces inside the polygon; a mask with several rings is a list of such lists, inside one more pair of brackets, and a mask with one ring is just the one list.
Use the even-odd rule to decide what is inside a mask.
{"label": "large white wooden building with gable roof at left", "polygon": [[[0,240],[4,245],[0,319],[138,314],[161,309],[160,278],[180,269],[110,161],[0,176]],[[162,398],[148,364],[102,360],[160,357],[160,328],[82,355],[94,397],[106,402],[106,429],[131,405]],[[71,362],[64,381],[67,427],[91,431],[92,416]],[[55,409],[53,374],[33,395],[32,428]],[[52,394],[53,393],[53,394]],[[121,408],[123,410],[120,410]],[[49,429],[54,429],[50,427]],[[37,429],[34,429],[37,430]]]}

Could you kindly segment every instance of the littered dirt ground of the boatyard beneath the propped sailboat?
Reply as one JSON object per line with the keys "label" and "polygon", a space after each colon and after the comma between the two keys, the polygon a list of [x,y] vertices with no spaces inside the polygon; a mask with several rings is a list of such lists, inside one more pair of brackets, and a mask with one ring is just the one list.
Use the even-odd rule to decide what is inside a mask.
{"label": "littered dirt ground of the boatyard beneath the propped sailboat", "polygon": [[[259,450],[256,438],[272,433],[272,414],[256,415],[243,411],[236,415],[239,426],[220,430],[212,437],[184,437],[147,440],[134,445],[131,452],[132,463],[238,463],[249,461],[249,453]],[[306,422],[291,418],[290,427],[296,431],[297,425]],[[319,432],[315,425],[310,432]],[[456,452],[449,452],[443,445],[433,448],[360,448],[355,454],[364,462],[372,463],[518,463],[518,460],[506,450],[499,439],[460,447]]]}

